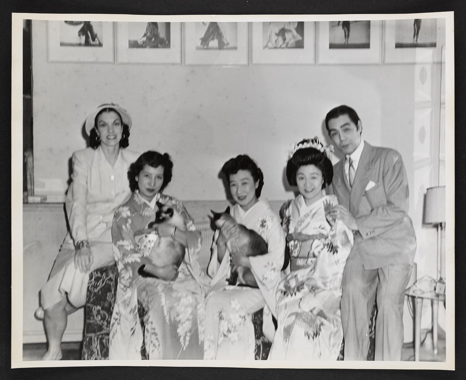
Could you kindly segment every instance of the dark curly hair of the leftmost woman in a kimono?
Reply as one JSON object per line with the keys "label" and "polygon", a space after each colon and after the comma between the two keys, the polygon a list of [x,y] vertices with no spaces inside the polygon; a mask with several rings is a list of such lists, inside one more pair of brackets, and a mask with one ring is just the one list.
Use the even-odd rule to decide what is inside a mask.
{"label": "dark curly hair of the leftmost woman in a kimono", "polygon": [[143,170],[144,166],[149,165],[154,168],[162,165],[164,167],[164,183],[160,187],[160,192],[170,183],[171,175],[173,171],[173,162],[168,153],[161,154],[155,151],[147,151],[141,154],[136,162],[133,162],[130,165],[128,170],[128,180],[130,181],[130,189],[132,192],[138,190],[136,177],[139,176],[139,173]]}

